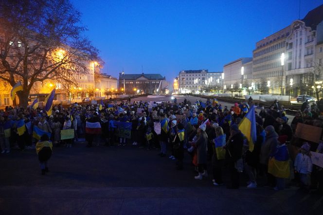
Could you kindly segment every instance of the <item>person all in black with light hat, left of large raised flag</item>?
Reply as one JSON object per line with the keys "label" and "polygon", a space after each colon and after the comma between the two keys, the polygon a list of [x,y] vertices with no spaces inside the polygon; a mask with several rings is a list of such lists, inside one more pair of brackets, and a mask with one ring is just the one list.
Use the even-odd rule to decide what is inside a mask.
{"label": "person all in black with light hat, left of large raised flag", "polygon": [[226,155],[230,176],[231,176],[231,186],[227,186],[229,189],[239,188],[239,172],[236,169],[238,160],[242,156],[243,147],[243,135],[239,130],[238,125],[234,124],[230,126],[230,137],[225,145]]}

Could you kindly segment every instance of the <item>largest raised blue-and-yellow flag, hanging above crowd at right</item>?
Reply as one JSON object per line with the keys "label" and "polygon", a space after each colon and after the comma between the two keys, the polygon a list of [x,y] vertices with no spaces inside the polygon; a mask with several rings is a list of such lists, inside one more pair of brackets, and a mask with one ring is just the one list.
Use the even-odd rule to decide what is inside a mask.
{"label": "largest raised blue-and-yellow flag, hanging above crowd at right", "polygon": [[254,143],[256,143],[256,140],[257,140],[256,117],[254,113],[254,105],[250,108],[250,111],[248,111],[248,113],[240,122],[239,129],[247,138],[248,144],[249,144],[249,150],[252,152]]}

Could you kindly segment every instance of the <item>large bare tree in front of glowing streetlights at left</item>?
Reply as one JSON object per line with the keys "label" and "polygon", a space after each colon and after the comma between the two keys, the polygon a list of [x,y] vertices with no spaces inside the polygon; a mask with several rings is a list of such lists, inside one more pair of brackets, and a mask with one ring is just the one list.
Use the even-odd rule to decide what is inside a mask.
{"label": "large bare tree in front of glowing streetlights at left", "polygon": [[11,86],[21,81],[20,106],[27,106],[36,82],[75,83],[89,61],[98,60],[98,50],[82,36],[80,16],[69,0],[0,1],[0,78]]}

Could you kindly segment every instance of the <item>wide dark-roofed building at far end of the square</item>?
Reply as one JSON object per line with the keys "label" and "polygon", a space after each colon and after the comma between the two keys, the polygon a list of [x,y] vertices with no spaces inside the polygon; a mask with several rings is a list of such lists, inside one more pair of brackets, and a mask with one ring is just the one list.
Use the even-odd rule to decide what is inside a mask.
{"label": "wide dark-roofed building at far end of the square", "polygon": [[[125,74],[119,73],[119,90],[124,88],[126,94],[165,93],[166,77],[161,74]],[[162,87],[161,87],[162,86]]]}

